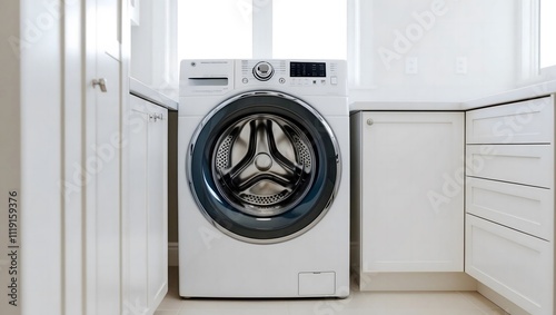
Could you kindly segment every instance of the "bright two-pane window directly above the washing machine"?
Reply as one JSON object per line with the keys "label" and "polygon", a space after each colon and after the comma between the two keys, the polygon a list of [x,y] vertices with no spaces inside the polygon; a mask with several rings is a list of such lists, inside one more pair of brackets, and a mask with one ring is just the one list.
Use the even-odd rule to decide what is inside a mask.
{"label": "bright two-pane window directly above the washing machine", "polygon": [[[268,8],[271,23],[252,18]],[[272,38],[271,58],[347,56],[346,0],[178,0],[177,20],[178,60],[261,58],[254,56],[254,28]]]}

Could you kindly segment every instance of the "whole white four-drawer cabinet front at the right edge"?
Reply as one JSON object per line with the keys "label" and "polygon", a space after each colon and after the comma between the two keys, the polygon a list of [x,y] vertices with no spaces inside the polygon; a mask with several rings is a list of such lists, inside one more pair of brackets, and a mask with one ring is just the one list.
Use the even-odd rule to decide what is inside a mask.
{"label": "whole white four-drawer cabinet front at the right edge", "polygon": [[467,114],[466,273],[554,314],[554,96]]}

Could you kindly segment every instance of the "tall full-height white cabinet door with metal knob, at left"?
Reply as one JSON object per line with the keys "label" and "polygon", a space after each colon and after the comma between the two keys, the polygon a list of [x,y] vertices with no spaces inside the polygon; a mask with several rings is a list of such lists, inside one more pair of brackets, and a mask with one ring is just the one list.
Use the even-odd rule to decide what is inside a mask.
{"label": "tall full-height white cabinet door with metal knob, at left", "polygon": [[86,305],[111,315],[121,313],[121,2],[86,3]]}

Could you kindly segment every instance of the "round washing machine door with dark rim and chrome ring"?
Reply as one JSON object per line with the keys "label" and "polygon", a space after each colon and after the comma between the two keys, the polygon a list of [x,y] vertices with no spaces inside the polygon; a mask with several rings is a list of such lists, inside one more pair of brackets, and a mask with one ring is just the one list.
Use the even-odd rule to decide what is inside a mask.
{"label": "round washing machine door with dark rim and chrome ring", "polygon": [[325,119],[291,96],[254,91],[205,117],[189,146],[191,193],[205,217],[250,243],[278,243],[317,224],[339,185]]}

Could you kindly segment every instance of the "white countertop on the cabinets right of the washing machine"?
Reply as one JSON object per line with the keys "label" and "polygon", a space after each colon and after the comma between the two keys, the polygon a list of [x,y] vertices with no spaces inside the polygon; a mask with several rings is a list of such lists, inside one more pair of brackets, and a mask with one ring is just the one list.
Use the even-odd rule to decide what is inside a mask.
{"label": "white countertop on the cabinets right of the washing machine", "polygon": [[350,111],[360,110],[404,110],[404,111],[465,111],[475,108],[537,98],[556,93],[556,80],[532,85],[505,92],[481,97],[461,102],[440,101],[355,101],[349,105]]}

